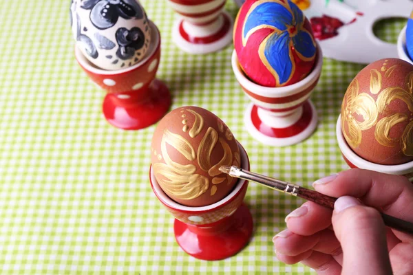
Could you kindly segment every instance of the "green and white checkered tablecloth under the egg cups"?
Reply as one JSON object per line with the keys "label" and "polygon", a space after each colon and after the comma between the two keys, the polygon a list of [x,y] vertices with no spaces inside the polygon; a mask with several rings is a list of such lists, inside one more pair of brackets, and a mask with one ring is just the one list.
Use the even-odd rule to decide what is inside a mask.
{"label": "green and white checkered tablecloth under the egg cups", "polygon": [[[251,168],[308,186],[346,169],[335,138],[341,99],[362,65],[326,59],[313,102],[319,127],[297,146],[268,148],[244,129],[248,99],[231,69],[233,47],[190,56],[171,43],[176,14],[166,0],[142,0],[160,28],[158,78],[173,108],[216,113],[248,151]],[[224,261],[187,256],[173,237],[173,217],[148,179],[154,126],[121,131],[101,113],[103,90],[74,59],[68,0],[0,2],[0,272],[3,274],[310,274],[279,263],[273,235],[302,201],[251,184],[246,203],[255,232]],[[226,10],[235,16],[235,4]],[[394,40],[405,21],[379,28]],[[391,32],[384,32],[384,29]]]}

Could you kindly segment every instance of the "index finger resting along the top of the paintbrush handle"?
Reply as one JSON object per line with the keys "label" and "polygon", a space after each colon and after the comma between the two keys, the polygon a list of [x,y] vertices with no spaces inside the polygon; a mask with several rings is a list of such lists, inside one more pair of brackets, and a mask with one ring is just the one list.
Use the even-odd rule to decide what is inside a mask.
{"label": "index finger resting along the top of the paintbrush handle", "polygon": [[413,221],[413,184],[403,176],[353,168],[314,182],[331,197],[349,195],[399,219]]}

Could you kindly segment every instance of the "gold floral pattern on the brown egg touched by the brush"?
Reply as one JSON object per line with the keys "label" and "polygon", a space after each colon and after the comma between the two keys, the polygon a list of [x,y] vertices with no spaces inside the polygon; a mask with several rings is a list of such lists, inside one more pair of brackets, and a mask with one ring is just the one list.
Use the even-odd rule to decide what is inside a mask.
{"label": "gold floral pattern on the brown egg touched by the brush", "polygon": [[[189,126],[187,124],[188,120],[186,119],[184,111],[194,115],[195,120],[193,121],[193,125]],[[191,109],[181,110],[180,113],[182,113],[181,118],[185,118],[182,120],[182,124],[184,124],[182,132],[187,133],[187,135],[191,138],[197,137],[204,129],[204,118]],[[218,129],[220,132],[224,133],[224,124],[222,124],[220,120],[218,120]],[[202,140],[198,146],[198,151],[195,151],[195,149],[191,146],[191,142],[189,142],[189,140],[185,137],[179,135],[178,133],[171,133],[171,131],[165,129],[161,141],[161,158],[163,157],[165,164],[153,164],[153,169],[157,174],[156,176],[162,175],[162,177],[156,177],[162,190],[173,194],[173,196],[178,199],[189,200],[199,197],[210,187],[209,179],[197,174],[197,168],[195,165],[183,165],[173,162],[167,152],[167,144],[175,148],[180,155],[183,155],[188,161],[196,160],[196,162],[198,162],[198,166],[212,177],[211,183],[213,186],[211,186],[210,190],[211,196],[215,195],[218,190],[218,185],[225,179],[228,179],[229,184],[232,178],[227,177],[227,175],[222,176],[219,168],[223,165],[239,165],[240,153],[235,152],[233,155],[233,152],[231,151],[227,140],[233,140],[233,135],[229,129],[226,129],[224,136],[225,138],[219,137],[218,132],[212,127],[209,127],[202,137]],[[222,146],[224,155],[218,163],[211,163],[211,154],[213,152],[213,148],[215,148],[218,142]]]}

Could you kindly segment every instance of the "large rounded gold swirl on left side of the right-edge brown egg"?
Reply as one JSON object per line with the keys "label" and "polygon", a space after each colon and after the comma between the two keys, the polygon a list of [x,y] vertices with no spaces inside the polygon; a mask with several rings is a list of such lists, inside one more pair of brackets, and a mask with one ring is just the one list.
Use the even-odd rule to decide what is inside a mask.
{"label": "large rounded gold swirl on left side of the right-edge brown egg", "polygon": [[379,116],[376,102],[366,93],[361,93],[355,98],[351,111],[363,116],[363,122],[356,120],[361,131],[368,130],[374,126],[377,122],[377,117]]}

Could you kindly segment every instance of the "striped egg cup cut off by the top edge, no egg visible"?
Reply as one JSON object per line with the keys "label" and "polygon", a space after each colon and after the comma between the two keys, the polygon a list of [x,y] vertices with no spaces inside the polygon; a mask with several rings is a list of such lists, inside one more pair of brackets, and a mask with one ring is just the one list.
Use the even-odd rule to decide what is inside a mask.
{"label": "striped egg cup cut off by the top edge, no egg visible", "polygon": [[168,0],[180,14],[173,41],[189,54],[217,52],[232,41],[233,19],[224,12],[226,0]]}

